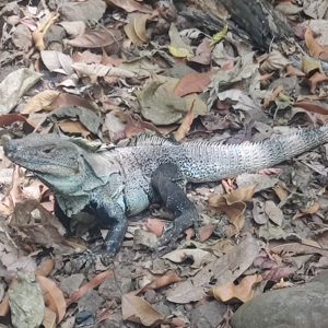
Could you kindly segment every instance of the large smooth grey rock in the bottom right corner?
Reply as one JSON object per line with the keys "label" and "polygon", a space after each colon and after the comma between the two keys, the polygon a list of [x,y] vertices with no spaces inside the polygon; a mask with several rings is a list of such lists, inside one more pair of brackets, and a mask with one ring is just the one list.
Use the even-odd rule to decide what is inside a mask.
{"label": "large smooth grey rock in the bottom right corner", "polygon": [[233,328],[328,327],[328,270],[311,282],[261,294],[242,305]]}

